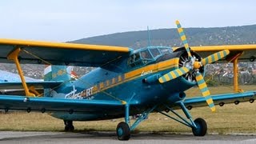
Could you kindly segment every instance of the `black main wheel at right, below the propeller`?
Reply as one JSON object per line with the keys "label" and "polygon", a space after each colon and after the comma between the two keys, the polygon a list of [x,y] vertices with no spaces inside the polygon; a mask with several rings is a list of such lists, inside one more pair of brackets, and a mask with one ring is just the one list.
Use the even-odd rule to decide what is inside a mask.
{"label": "black main wheel at right, below the propeller", "polygon": [[194,124],[197,128],[192,128],[194,136],[204,136],[207,132],[207,124],[206,121],[202,118],[197,118],[194,120]]}

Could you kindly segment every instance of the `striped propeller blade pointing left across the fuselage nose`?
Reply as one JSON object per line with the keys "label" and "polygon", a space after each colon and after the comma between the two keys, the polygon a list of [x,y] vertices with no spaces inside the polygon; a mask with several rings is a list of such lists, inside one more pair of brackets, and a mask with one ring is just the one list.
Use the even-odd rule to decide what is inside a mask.
{"label": "striped propeller blade pointing left across the fuselage nose", "polygon": [[167,74],[164,74],[162,77],[158,78],[158,81],[160,83],[164,83],[164,82],[168,82],[174,78],[178,78],[180,76],[182,76],[183,74],[186,74],[187,72],[189,72],[190,70],[186,67],[181,67],[178,68],[176,70],[170,71]]}

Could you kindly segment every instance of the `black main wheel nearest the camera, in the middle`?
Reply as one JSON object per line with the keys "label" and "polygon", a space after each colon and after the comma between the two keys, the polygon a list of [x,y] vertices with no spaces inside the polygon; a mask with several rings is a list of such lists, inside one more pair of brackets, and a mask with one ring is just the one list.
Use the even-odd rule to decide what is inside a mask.
{"label": "black main wheel nearest the camera, in the middle", "polygon": [[120,122],[117,126],[118,139],[121,141],[127,141],[130,139],[130,127],[126,122]]}

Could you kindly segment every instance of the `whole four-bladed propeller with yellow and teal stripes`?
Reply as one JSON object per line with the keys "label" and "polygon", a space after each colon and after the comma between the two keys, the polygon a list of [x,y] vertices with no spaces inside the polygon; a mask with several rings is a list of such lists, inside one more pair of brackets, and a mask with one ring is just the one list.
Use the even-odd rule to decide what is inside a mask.
{"label": "whole four-bladed propeller with yellow and teal stripes", "polygon": [[196,73],[195,80],[198,84],[199,89],[202,92],[202,96],[206,99],[206,102],[207,102],[208,106],[210,107],[210,110],[215,111],[216,108],[214,106],[213,99],[210,97],[210,91],[209,91],[208,87],[206,86],[206,82],[203,79],[202,74],[199,72],[199,69],[202,66],[205,66],[206,64],[216,62],[219,59],[226,57],[226,55],[230,54],[230,51],[229,50],[219,51],[215,54],[211,54],[210,56],[208,56],[206,58],[203,58],[201,60],[201,62],[199,62],[198,59],[195,58],[194,56],[192,56],[192,54],[190,52],[190,47],[187,43],[186,36],[182,29],[182,26],[180,25],[180,23],[178,21],[176,21],[176,25],[178,27],[178,34],[179,34],[180,38],[182,39],[183,45],[185,46],[186,53],[188,54],[188,56],[190,58],[190,65],[182,66],[176,70],[172,70],[169,73],[164,74],[162,77],[158,78],[158,81],[160,83],[164,83],[164,82],[168,82],[174,78],[178,78],[184,74],[187,74],[188,72],[195,72]]}

